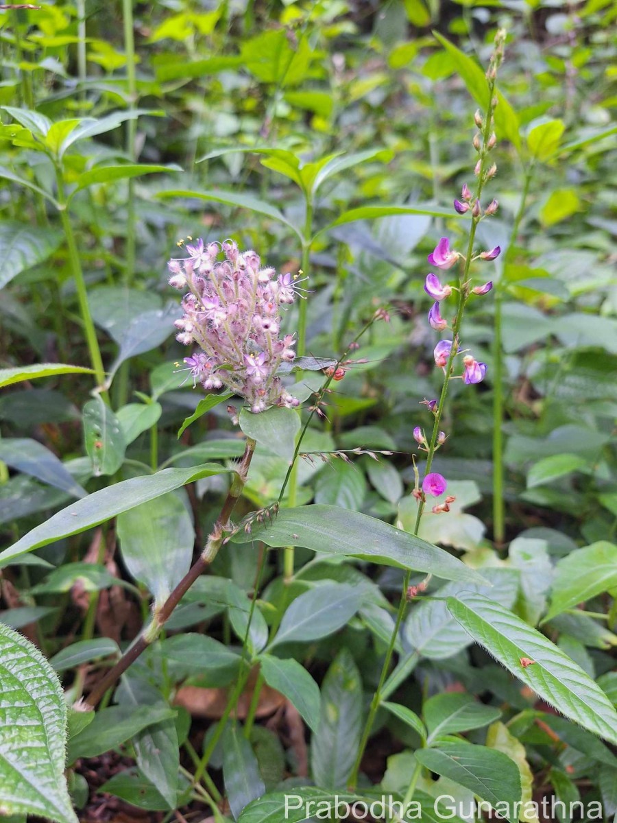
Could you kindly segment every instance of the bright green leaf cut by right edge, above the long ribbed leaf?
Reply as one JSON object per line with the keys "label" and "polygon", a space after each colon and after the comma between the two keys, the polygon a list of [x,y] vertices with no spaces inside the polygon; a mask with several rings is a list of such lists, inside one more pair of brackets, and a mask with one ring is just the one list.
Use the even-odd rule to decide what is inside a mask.
{"label": "bright green leaf cut by right edge, above the long ribbed leaf", "polygon": [[545,621],[602,592],[614,590],[617,591],[617,546],[614,543],[601,540],[571,551],[556,566],[550,610]]}

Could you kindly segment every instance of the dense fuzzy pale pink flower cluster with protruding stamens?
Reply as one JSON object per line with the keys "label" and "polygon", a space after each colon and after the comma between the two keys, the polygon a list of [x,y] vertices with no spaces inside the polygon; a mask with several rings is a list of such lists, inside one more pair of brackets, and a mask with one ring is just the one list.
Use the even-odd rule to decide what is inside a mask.
{"label": "dense fuzzy pale pink flower cluster with protruding stamens", "polygon": [[[193,386],[225,388],[245,398],[252,412],[299,402],[281,385],[276,370],[295,358],[294,337],[280,337],[281,305],[294,302],[298,281],[262,268],[253,251],[240,253],[231,240],[186,246],[188,257],[169,260],[169,285],[188,289],[183,317],[175,322],[179,342],[199,350],[185,357]],[[220,254],[225,259],[220,260]]]}

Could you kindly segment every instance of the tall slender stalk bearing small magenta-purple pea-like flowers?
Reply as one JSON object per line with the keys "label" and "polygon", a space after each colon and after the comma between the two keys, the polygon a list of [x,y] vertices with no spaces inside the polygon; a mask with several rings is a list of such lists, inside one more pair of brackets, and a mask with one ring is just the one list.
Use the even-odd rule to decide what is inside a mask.
{"label": "tall slender stalk bearing small magenta-purple pea-like flowers", "polygon": [[[462,325],[462,318],[463,313],[466,305],[466,301],[469,299],[470,296],[470,286],[469,286],[469,272],[471,263],[475,259],[481,258],[481,255],[478,254],[476,258],[473,255],[474,243],[476,240],[476,230],[480,220],[484,219],[486,214],[482,212],[480,207],[480,197],[482,195],[483,189],[485,187],[485,183],[491,179],[495,172],[496,166],[493,164],[489,168],[488,161],[489,161],[489,152],[495,145],[494,135],[493,135],[493,112],[494,107],[497,105],[497,99],[494,97],[494,86],[495,80],[497,77],[497,69],[499,68],[499,64],[503,59],[503,43],[505,40],[505,32],[503,30],[499,30],[498,34],[495,38],[495,49],[494,53],[491,56],[489,70],[486,74],[486,78],[488,81],[488,91],[489,91],[489,104],[485,114],[485,119],[483,120],[480,113],[476,113],[476,125],[478,128],[481,128],[480,135],[476,135],[474,138],[474,146],[476,147],[476,151],[478,151],[479,159],[476,163],[475,174],[477,178],[476,183],[476,193],[473,197],[469,197],[469,189],[465,186],[463,188],[463,198],[472,202],[473,205],[471,207],[471,223],[470,223],[470,230],[469,230],[469,240],[467,243],[467,251],[466,255],[462,257],[461,254],[453,252],[449,248],[448,239],[442,238],[434,252],[429,255],[429,263],[432,266],[437,266],[442,269],[448,269],[454,263],[456,263],[458,258],[462,258],[464,260],[462,266],[462,272],[458,272],[457,276],[457,286],[456,286],[456,294],[457,294],[457,314],[455,315],[454,321],[452,323],[452,342],[449,346],[441,346],[440,351],[435,354],[436,365],[443,366],[443,384],[441,395],[438,399],[436,405],[433,402],[429,402],[429,408],[431,408],[433,415],[434,415],[434,423],[433,423],[433,432],[431,434],[428,448],[426,449],[426,465],[424,468],[424,482],[429,481],[429,478],[432,478],[429,481],[429,487],[432,487],[434,491],[438,491],[441,488],[442,484],[441,481],[435,478],[441,478],[440,475],[431,474],[431,469],[433,466],[434,455],[437,449],[439,448],[439,440],[441,439],[443,442],[443,432],[441,432],[440,426],[443,416],[443,409],[445,407],[446,399],[448,397],[448,388],[451,379],[454,378],[454,363],[455,358],[457,357],[458,352],[460,351],[461,344],[460,344],[460,332],[461,332],[461,325]],[[457,201],[458,203],[458,201]],[[492,204],[491,204],[492,205]],[[459,211],[457,206],[455,205],[455,210]],[[494,208],[489,212],[489,214],[494,213]],[[499,253],[499,249],[496,250]],[[437,278],[435,278],[437,279]],[[452,291],[455,291],[452,288]],[[429,295],[434,297],[429,291]],[[444,295],[445,296],[445,295]],[[435,297],[434,297],[435,299]],[[436,298],[438,299],[438,298]],[[446,343],[446,341],[442,341],[442,343]],[[447,353],[446,353],[447,352]],[[439,359],[438,359],[439,354]],[[443,365],[443,360],[446,360],[445,365]],[[473,358],[472,358],[473,360]],[[476,361],[474,360],[474,363]],[[484,365],[484,364],[482,364]],[[478,364],[478,367],[480,365]],[[479,368],[480,371],[481,368]],[[467,369],[466,369],[467,372]],[[474,376],[476,376],[476,372],[474,372]],[[484,374],[482,374],[484,376]],[[481,378],[480,378],[481,379]],[[479,381],[474,381],[479,382]],[[443,478],[441,478],[443,480]],[[424,486],[424,484],[423,484]],[[426,504],[426,494],[423,491],[420,491],[416,487],[414,496],[418,500],[418,511],[415,518],[415,527],[414,527],[414,535],[417,536],[418,532],[420,531],[420,522],[422,519],[422,515],[424,514],[424,507]],[[444,490],[443,490],[444,491]],[[452,500],[451,498],[447,498],[447,500]],[[434,513],[438,514],[438,511],[448,511],[446,504],[443,507],[435,507]],[[437,510],[436,510],[437,509]],[[383,686],[385,684],[387,673],[390,669],[390,663],[392,661],[392,654],[394,652],[394,646],[396,644],[397,636],[399,630],[401,629],[401,623],[403,621],[403,617],[405,616],[406,606],[408,602],[408,589],[411,580],[411,571],[407,571],[405,574],[405,579],[403,582],[401,598],[399,601],[399,606],[397,610],[397,618],[395,621],[394,629],[392,630],[392,635],[390,638],[390,642],[387,647],[385,658],[383,659],[383,666],[382,671],[379,676],[378,686],[373,694],[373,700],[371,700],[369,714],[364,725],[364,731],[362,733],[362,737],[360,739],[360,746],[358,748],[358,754],[355,758],[354,766],[351,770],[350,778],[348,780],[348,788],[351,791],[354,791],[357,784],[358,784],[358,776],[360,774],[360,765],[362,763],[362,758],[364,757],[364,751],[366,749],[367,743],[369,742],[369,737],[371,731],[373,729],[373,722],[375,719],[375,715],[377,714],[379,705],[382,701],[382,694],[383,694]],[[412,593],[413,595],[413,593]],[[415,789],[415,781],[418,779],[418,774],[414,774],[412,778],[412,782],[407,792],[406,801],[409,801],[413,796],[414,789]]]}

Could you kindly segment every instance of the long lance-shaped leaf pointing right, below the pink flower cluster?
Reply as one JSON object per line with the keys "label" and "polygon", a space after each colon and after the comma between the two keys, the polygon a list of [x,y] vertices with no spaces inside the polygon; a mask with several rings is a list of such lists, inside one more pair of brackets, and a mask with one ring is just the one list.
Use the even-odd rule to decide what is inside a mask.
{"label": "long lance-shaped leaf pointing right, below the pink flower cluster", "polygon": [[478,572],[447,551],[401,532],[382,520],[349,509],[337,509],[336,506],[308,505],[299,509],[281,509],[271,523],[253,526],[248,536],[237,534],[234,542],[253,539],[262,540],[267,546],[275,548],[305,546],[331,555],[363,557],[404,569],[432,572],[446,580],[484,581]]}

